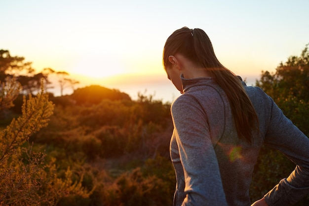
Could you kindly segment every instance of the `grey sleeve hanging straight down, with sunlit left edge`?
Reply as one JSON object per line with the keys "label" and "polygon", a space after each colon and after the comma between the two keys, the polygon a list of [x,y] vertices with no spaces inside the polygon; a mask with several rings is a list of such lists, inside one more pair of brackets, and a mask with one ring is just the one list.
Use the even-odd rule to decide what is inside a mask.
{"label": "grey sleeve hanging straight down, with sunlit left edge", "polygon": [[219,165],[206,115],[193,98],[180,98],[171,107],[175,138],[185,175],[183,206],[227,206]]}

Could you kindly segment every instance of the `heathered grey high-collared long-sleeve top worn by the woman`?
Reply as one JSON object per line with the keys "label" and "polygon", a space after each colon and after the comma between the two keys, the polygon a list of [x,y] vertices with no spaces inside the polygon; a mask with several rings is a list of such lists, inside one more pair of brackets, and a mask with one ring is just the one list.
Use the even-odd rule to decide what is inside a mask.
{"label": "heathered grey high-collared long-sleeve top worn by the woman", "polygon": [[265,195],[266,202],[288,206],[309,193],[309,138],[267,94],[243,82],[260,124],[249,144],[237,137],[227,96],[211,77],[181,78],[184,93],[171,106],[174,206],[250,206],[249,187],[262,144],[297,165]]}

